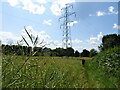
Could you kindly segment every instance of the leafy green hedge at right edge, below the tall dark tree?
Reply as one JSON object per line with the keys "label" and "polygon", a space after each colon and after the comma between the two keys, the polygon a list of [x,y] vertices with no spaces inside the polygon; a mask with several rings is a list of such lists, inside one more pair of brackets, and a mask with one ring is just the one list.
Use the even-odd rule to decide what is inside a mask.
{"label": "leafy green hedge at right edge, below the tall dark tree", "polygon": [[[99,60],[98,60],[99,58]],[[99,66],[103,67],[107,73],[114,74],[114,76],[118,77],[118,73],[120,74],[120,46],[108,49],[100,53],[95,60],[98,61]]]}

